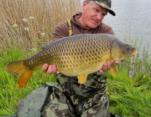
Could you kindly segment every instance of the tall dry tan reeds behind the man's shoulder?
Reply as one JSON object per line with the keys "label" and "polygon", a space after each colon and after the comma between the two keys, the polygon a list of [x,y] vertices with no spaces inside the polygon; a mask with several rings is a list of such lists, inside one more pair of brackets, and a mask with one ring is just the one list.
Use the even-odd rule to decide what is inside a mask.
{"label": "tall dry tan reeds behind the man's shoulder", "polygon": [[1,0],[0,52],[40,48],[52,39],[58,22],[79,10],[80,0]]}

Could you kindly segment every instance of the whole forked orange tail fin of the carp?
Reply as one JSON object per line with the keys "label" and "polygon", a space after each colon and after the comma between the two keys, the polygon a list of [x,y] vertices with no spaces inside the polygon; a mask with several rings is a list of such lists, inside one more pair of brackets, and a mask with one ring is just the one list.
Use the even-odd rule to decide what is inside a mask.
{"label": "whole forked orange tail fin of the carp", "polygon": [[24,61],[15,61],[7,65],[7,70],[11,73],[19,75],[18,87],[22,88],[26,86],[28,80],[32,76],[33,70],[24,64]]}

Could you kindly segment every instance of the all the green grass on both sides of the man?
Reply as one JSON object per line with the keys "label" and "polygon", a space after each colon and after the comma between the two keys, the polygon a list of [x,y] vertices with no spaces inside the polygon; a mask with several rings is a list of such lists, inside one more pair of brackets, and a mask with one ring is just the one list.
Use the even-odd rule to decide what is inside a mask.
{"label": "all the green grass on both sides of the man", "polygon": [[[17,78],[6,72],[5,65],[31,54],[32,51],[21,49],[9,49],[0,54],[0,116],[13,115],[21,99],[35,88],[55,80],[53,75],[38,70],[25,88],[16,87]],[[122,117],[151,116],[151,77],[150,72],[146,72],[146,69],[150,69],[149,64],[148,60],[136,59],[133,63],[134,68],[130,61],[127,61],[119,65],[119,72],[115,77],[107,74],[111,112]],[[146,69],[142,70],[143,66],[140,68],[140,65]],[[130,70],[134,72],[131,77],[128,75]]]}

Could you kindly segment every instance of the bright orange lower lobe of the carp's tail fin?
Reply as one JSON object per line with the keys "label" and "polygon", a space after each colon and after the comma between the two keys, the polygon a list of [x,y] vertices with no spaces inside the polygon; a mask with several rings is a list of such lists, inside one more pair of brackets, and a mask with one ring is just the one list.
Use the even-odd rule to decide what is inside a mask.
{"label": "bright orange lower lobe of the carp's tail fin", "polygon": [[19,88],[23,88],[24,86],[26,86],[28,80],[31,78],[32,76],[32,72],[31,70],[26,70],[25,72],[23,72],[18,80],[18,87]]}

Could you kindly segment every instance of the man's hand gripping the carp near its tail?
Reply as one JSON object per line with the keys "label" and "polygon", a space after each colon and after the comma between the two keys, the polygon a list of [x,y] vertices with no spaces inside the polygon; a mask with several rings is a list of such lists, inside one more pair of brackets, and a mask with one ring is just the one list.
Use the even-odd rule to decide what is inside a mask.
{"label": "man's hand gripping the carp near its tail", "polygon": [[53,65],[43,64],[42,69],[46,73],[58,73],[58,69],[55,64]]}

